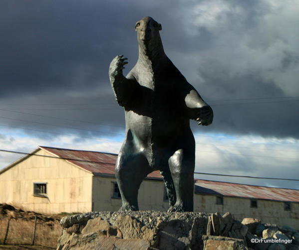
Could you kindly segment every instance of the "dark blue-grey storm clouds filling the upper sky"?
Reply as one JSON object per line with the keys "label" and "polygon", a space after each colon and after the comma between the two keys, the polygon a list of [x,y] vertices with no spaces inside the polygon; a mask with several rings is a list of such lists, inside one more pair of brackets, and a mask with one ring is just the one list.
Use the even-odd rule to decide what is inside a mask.
{"label": "dark blue-grey storm clouds filling the upper sky", "polygon": [[2,125],[84,136],[121,133],[124,116],[108,66],[124,54],[125,72],[133,67],[138,56],[133,27],[150,15],[162,23],[167,55],[214,108],[214,124],[201,131],[299,137],[299,102],[216,102],[299,96],[292,29],[276,26],[287,25],[289,17],[275,13],[268,1],[5,0],[0,9]]}

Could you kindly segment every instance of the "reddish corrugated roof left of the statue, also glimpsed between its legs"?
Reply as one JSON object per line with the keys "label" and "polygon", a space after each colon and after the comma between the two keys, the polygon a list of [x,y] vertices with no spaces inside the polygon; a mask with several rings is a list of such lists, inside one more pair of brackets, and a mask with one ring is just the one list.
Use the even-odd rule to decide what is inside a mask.
{"label": "reddish corrugated roof left of the statue, also glimpsed between its legs", "polygon": [[[44,149],[60,158],[66,158],[68,162],[92,172],[93,174],[115,174],[114,168],[117,154],[44,146],[39,146],[39,148]],[[160,171],[153,171],[148,174],[147,177],[162,178]]]}

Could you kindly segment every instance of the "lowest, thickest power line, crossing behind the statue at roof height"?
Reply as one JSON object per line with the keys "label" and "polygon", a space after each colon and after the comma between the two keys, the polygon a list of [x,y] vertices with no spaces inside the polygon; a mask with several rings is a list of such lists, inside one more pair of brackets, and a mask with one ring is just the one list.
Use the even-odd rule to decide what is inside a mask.
{"label": "lowest, thickest power line, crossing behind the statue at roof height", "polygon": [[[90,161],[90,160],[82,160],[82,159],[74,159],[74,158],[65,158],[65,157],[58,157],[58,156],[50,156],[50,155],[41,155],[41,154],[34,154],[34,153],[24,153],[12,150],[4,150],[0,149],[1,152],[6,153],[15,153],[15,154],[24,154],[28,156],[39,156],[39,157],[47,157],[47,158],[56,158],[56,159],[63,159],[63,160],[74,160],[80,162],[89,162],[89,163],[99,163],[99,164],[106,164],[106,165],[113,165],[114,163],[102,162],[102,161]],[[202,173],[202,172],[194,172],[195,174],[204,174],[204,175],[216,175],[216,176],[227,176],[227,177],[242,177],[242,178],[254,178],[254,179],[269,179],[269,180],[287,180],[287,181],[299,181],[299,179],[288,179],[288,178],[275,178],[275,177],[257,177],[257,176],[246,176],[246,175],[230,175],[230,174],[214,174],[214,173]]]}

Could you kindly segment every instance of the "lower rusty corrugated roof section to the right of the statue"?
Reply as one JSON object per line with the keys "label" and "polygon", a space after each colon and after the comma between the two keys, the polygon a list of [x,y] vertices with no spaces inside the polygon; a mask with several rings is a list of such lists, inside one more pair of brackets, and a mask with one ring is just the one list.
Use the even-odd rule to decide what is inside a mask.
{"label": "lower rusty corrugated roof section to the right of the statue", "polygon": [[195,192],[251,199],[299,202],[299,190],[221,181],[196,180]]}

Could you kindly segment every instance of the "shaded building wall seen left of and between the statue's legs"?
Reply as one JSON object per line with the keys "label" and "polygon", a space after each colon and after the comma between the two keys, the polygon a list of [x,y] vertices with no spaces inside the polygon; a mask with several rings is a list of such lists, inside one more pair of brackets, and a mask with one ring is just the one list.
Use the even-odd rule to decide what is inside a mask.
{"label": "shaded building wall seen left of and between the statue's legs", "polygon": [[[92,211],[117,211],[121,199],[112,198],[115,178],[93,177]],[[168,201],[163,201],[164,183],[162,181],[144,180],[138,193],[140,210],[167,211]]]}

